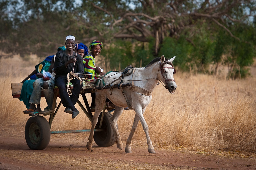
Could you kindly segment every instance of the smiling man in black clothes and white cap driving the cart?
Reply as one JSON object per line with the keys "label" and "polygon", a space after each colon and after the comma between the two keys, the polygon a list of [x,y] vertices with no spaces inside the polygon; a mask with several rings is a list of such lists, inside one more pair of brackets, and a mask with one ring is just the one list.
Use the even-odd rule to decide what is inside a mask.
{"label": "smiling man in black clothes and white cap driving the cart", "polygon": [[[72,114],[72,119],[74,119],[79,111],[75,108],[75,103],[77,103],[79,92],[83,86],[83,84],[80,84],[80,80],[72,79],[70,83],[72,83],[73,89],[72,89],[72,95],[67,93],[66,91],[66,84],[67,84],[67,74],[74,69],[75,73],[84,73],[83,68],[83,60],[82,57],[73,51],[73,48],[75,46],[75,37],[72,35],[68,35],[66,37],[66,50],[65,51],[59,51],[56,54],[55,63],[54,63],[54,70],[56,72],[55,75],[55,82],[56,86],[59,88],[59,96],[61,98],[62,104],[66,109],[64,112]],[[75,59],[76,57],[76,59]],[[75,63],[75,66],[74,66]],[[82,77],[82,75],[78,75],[79,77]]]}

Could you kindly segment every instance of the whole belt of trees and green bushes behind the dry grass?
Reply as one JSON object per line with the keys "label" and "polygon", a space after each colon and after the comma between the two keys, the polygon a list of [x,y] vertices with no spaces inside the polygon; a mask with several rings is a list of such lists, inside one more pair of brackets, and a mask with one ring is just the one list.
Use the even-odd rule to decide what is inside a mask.
{"label": "whole belt of trees and green bushes behind the dry grass", "polygon": [[256,19],[247,16],[255,9],[253,0],[2,0],[0,45],[6,53],[45,57],[74,35],[86,45],[103,42],[109,69],[144,67],[164,55],[177,56],[183,70],[227,64],[228,78],[240,78],[256,56]]}

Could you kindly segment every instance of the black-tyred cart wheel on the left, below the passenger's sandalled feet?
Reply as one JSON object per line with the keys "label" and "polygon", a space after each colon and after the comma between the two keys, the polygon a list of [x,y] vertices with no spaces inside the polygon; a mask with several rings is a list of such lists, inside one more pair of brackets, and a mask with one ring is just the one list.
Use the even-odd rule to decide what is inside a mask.
{"label": "black-tyred cart wheel on the left, below the passenger's sandalled feet", "polygon": [[45,149],[51,137],[50,126],[43,116],[30,117],[25,126],[25,139],[30,149]]}

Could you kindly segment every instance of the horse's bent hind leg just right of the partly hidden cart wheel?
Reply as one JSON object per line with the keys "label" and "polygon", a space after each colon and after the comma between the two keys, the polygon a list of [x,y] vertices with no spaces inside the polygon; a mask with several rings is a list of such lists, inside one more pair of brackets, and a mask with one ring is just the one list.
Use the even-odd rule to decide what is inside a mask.
{"label": "horse's bent hind leg just right of the partly hidden cart wheel", "polygon": [[110,125],[111,125],[111,127],[114,131],[114,134],[115,134],[115,137],[116,137],[116,141],[115,141],[116,142],[116,147],[118,147],[118,149],[123,149],[123,143],[122,143],[122,140],[121,140],[121,136],[118,133],[116,125],[117,125],[118,118],[122,114],[123,111],[124,111],[124,108],[116,106],[115,111],[113,113],[113,116],[110,119]]}

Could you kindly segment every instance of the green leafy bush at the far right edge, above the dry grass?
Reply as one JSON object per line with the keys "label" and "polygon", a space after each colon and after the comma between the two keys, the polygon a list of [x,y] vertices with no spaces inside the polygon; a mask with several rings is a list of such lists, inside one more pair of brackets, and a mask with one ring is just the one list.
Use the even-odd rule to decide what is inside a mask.
{"label": "green leafy bush at the far right edge, above the dry grass", "polygon": [[[223,55],[226,56],[224,63],[229,66],[228,78],[244,78],[249,75],[247,66],[253,64],[256,56],[255,51],[255,27],[249,25],[236,25],[232,27],[235,35],[240,40],[229,38],[226,41],[226,50]],[[228,35],[224,35],[228,39]]]}

